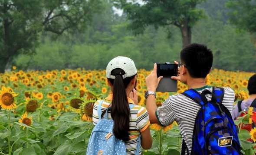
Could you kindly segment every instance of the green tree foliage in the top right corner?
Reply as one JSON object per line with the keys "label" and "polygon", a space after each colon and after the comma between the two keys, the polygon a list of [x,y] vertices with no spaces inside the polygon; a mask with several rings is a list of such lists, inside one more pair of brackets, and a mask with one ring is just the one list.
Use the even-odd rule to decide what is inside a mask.
{"label": "green tree foliage in the top right corner", "polygon": [[251,41],[256,48],[256,0],[229,0],[230,22],[251,34]]}

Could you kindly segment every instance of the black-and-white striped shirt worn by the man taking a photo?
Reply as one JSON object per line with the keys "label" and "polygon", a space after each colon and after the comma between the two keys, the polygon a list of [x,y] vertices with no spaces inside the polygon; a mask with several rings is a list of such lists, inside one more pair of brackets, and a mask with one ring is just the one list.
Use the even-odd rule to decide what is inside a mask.
{"label": "black-and-white striped shirt worn by the man taking a photo", "polygon": [[[224,89],[225,91],[222,104],[230,111],[231,114],[235,100],[235,93],[229,87],[225,87]],[[210,92],[213,91],[212,87],[208,85],[195,90],[200,94],[204,90],[209,90]],[[206,97],[208,101],[211,100],[211,95],[206,95]],[[194,123],[199,109],[200,105],[195,101],[184,95],[177,94],[167,98],[162,103],[162,106],[156,111],[158,122],[163,126],[171,124],[174,120],[177,121],[181,130],[182,139],[186,142],[189,152],[191,152],[192,148]]]}

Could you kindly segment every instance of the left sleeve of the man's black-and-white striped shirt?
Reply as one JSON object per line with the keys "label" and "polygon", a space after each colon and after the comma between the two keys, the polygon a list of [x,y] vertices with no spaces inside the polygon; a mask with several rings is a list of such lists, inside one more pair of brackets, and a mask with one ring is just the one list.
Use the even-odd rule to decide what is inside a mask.
{"label": "left sleeve of the man's black-and-white striped shirt", "polygon": [[156,110],[156,117],[158,119],[158,123],[160,123],[160,125],[162,126],[168,126],[176,119],[174,109],[171,105],[171,98],[173,98],[173,96],[167,98],[162,103],[162,106],[158,107],[158,109]]}

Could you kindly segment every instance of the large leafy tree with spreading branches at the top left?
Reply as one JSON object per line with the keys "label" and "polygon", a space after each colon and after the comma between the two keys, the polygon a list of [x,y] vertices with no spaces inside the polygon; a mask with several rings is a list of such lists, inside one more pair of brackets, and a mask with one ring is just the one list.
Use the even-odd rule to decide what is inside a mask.
{"label": "large leafy tree with spreading branches at the top left", "polygon": [[82,30],[100,0],[0,0],[0,73],[20,53],[31,54],[40,32]]}

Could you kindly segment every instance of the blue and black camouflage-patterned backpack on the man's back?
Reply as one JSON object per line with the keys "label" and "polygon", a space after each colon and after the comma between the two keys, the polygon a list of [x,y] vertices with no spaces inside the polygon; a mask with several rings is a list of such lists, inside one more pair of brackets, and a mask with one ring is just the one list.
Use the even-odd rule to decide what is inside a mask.
{"label": "blue and black camouflage-patterned backpack on the man's back", "polygon": [[[195,120],[191,155],[240,155],[236,126],[222,104],[224,89],[213,87],[213,93],[205,90],[202,94],[189,89],[182,94],[201,106]],[[211,101],[207,101],[207,94],[212,95]],[[181,155],[185,152],[189,155],[183,140]]]}

